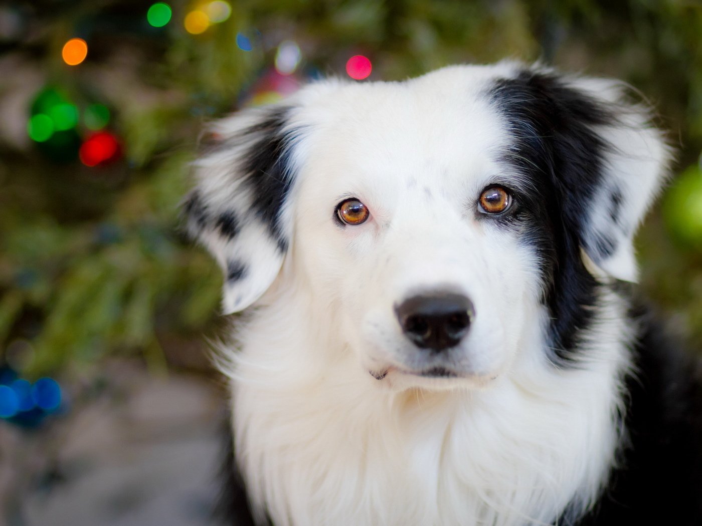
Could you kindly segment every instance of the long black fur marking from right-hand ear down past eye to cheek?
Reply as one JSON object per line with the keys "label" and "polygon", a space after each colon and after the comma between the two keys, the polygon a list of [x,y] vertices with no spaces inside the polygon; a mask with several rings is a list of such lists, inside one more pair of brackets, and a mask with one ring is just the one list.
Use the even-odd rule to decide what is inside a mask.
{"label": "long black fur marking from right-hand ear down past eye to cheek", "polygon": [[616,116],[604,104],[555,75],[524,70],[498,79],[488,96],[508,121],[514,142],[504,160],[527,175],[536,191],[517,196],[517,220],[543,261],[543,301],[552,318],[551,346],[563,363],[573,358],[578,333],[587,328],[599,286],[585,269],[581,246],[606,255],[614,242],[599,236],[588,246],[588,213],[603,184],[608,145],[592,130]]}

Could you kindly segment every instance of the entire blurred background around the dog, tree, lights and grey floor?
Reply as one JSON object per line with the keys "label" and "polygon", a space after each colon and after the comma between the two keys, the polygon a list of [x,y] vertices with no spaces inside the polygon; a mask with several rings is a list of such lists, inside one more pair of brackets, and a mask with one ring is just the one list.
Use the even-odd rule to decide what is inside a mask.
{"label": "entire blurred background around the dog, tree, lights and grey floor", "polygon": [[1,3],[0,525],[210,523],[229,322],[178,217],[204,123],[319,76],[501,58],[654,104],[678,161],[642,284],[702,349],[697,0]]}

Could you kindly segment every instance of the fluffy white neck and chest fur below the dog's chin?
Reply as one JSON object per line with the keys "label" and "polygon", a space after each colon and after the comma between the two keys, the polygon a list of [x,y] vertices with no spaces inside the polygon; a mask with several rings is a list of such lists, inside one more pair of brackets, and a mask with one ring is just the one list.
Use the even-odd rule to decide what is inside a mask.
{"label": "fluffy white neck and chest fur below the dog's chin", "polygon": [[583,513],[600,494],[621,442],[633,337],[621,332],[614,293],[603,290],[575,367],[547,363],[538,312],[510,372],[488,388],[399,393],[340,341],[341,311],[326,305],[303,321],[314,302],[279,293],[242,324],[241,349],[222,367],[258,520],[540,525],[566,508]]}

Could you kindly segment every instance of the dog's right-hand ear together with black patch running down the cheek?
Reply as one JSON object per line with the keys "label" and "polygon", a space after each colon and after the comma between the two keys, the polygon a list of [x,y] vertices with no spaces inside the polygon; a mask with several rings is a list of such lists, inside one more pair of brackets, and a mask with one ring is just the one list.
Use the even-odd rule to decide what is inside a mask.
{"label": "dog's right-hand ear together with black patch running down the cheek", "polygon": [[[541,234],[529,242],[543,262],[552,350],[567,360],[592,321],[600,286],[581,250],[614,277],[635,276],[633,232],[660,183],[665,146],[611,82],[521,69],[494,81],[486,96],[511,135],[501,160],[536,190],[529,201]],[[654,154],[642,156],[645,146]],[[640,203],[630,197],[637,194]]]}

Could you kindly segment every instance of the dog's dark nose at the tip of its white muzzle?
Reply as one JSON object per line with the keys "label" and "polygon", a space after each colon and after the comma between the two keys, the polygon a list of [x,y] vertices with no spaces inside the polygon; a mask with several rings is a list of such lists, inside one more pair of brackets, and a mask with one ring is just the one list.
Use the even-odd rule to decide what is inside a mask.
{"label": "dog's dark nose at the tip of its white muzzle", "polygon": [[475,316],[473,304],[458,294],[414,296],[395,307],[402,331],[421,349],[443,351],[458,345]]}

